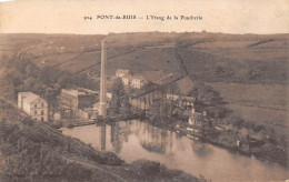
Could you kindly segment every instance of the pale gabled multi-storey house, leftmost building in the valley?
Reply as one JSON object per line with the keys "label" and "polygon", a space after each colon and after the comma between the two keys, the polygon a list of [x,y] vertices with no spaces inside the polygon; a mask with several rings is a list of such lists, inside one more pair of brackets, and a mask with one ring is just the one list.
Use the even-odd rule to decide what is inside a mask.
{"label": "pale gabled multi-storey house, leftmost building in the valley", "polygon": [[48,121],[48,103],[32,92],[18,93],[18,108],[37,121]]}

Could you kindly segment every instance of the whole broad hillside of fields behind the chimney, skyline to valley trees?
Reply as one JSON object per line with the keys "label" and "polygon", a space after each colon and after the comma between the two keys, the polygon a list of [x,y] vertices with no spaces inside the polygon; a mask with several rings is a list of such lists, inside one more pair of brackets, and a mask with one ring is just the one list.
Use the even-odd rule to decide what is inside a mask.
{"label": "whole broad hillside of fields behind the chimney, skyline to valley trees", "polygon": [[179,82],[183,92],[202,81],[248,121],[281,131],[289,119],[289,34],[0,34],[0,65],[4,57],[24,57],[38,67],[99,77],[102,39],[108,41],[108,74],[117,69],[178,72],[186,75]]}

